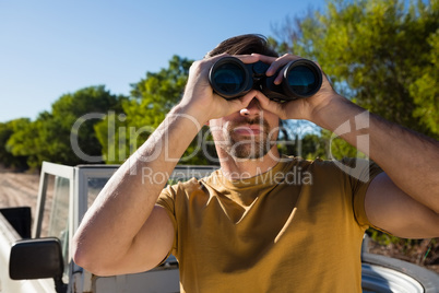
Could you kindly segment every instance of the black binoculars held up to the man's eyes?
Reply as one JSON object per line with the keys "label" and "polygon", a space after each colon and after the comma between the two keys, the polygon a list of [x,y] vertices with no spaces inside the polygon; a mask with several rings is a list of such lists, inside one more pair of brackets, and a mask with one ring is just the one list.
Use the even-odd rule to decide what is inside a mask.
{"label": "black binoculars held up to the man's eyes", "polygon": [[[214,92],[226,99],[237,98],[254,89],[276,102],[288,102],[316,94],[322,84],[322,72],[312,61],[298,59],[283,69],[281,84],[274,84],[277,71],[272,77],[265,72],[270,65],[262,61],[246,65],[235,57],[224,57],[216,61],[209,72],[209,81]],[[283,70],[281,69],[281,70]]]}

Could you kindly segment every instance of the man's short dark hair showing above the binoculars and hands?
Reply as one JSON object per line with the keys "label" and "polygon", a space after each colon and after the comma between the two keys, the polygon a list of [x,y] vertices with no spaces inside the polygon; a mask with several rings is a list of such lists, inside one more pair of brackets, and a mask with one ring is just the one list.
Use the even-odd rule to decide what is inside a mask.
{"label": "man's short dark hair showing above the binoculars and hands", "polygon": [[220,45],[207,52],[204,58],[210,58],[223,52],[229,55],[250,55],[254,52],[271,57],[278,57],[277,52],[270,47],[266,38],[257,34],[230,37],[220,43]]}

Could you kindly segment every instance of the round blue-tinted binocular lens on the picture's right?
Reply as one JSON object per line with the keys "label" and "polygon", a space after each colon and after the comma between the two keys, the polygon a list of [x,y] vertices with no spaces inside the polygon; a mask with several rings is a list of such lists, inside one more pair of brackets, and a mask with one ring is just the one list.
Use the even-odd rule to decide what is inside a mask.
{"label": "round blue-tinted binocular lens on the picture's right", "polygon": [[293,67],[288,72],[288,85],[298,95],[308,95],[318,87],[316,72],[306,66]]}

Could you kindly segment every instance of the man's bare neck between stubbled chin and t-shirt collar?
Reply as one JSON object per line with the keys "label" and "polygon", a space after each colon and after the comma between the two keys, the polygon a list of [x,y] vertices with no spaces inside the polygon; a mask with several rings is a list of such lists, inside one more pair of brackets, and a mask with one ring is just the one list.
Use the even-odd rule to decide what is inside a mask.
{"label": "man's bare neck between stubbled chin and t-shirt collar", "polygon": [[237,159],[225,154],[221,156],[221,171],[230,180],[250,178],[270,171],[278,161],[280,154],[276,146],[260,159]]}

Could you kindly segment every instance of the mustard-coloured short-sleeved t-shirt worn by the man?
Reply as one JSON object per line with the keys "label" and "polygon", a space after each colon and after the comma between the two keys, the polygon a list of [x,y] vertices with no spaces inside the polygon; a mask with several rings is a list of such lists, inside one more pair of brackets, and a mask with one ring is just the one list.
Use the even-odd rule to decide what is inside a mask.
{"label": "mustard-coloured short-sleeved t-shirt worn by the man", "polygon": [[361,292],[364,199],[379,169],[346,163],[283,157],[249,179],[218,169],[164,189],[181,292]]}

